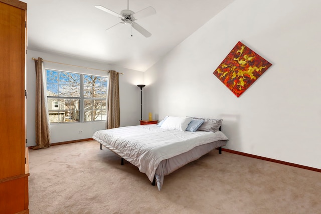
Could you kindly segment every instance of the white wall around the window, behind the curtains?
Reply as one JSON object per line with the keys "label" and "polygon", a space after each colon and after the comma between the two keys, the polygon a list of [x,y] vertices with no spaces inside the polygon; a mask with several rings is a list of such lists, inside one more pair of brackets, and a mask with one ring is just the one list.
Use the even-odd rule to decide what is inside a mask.
{"label": "white wall around the window, behind the curtains", "polygon": [[[99,62],[90,62],[83,59],[70,58],[63,55],[43,53],[28,50],[27,54],[27,146],[36,145],[35,133],[35,94],[36,72],[32,58],[41,57],[47,61],[84,66],[101,70],[115,70],[124,73],[119,76],[120,96],[120,126],[139,125],[140,120],[140,89],[137,84],[143,84],[143,72],[120,68]],[[63,71],[73,71],[86,74],[107,76],[107,72],[93,69],[84,69],[56,63],[44,62],[45,68]],[[97,130],[105,129],[105,121],[89,123],[51,124],[51,143],[65,142],[78,139],[91,138]],[[83,131],[81,134],[79,131]]]}

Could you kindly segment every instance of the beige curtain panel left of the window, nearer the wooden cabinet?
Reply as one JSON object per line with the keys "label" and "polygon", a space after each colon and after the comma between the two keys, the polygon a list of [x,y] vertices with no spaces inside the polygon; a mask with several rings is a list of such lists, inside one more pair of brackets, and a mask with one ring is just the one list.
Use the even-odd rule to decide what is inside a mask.
{"label": "beige curtain panel left of the window, nearer the wooden cabinet", "polygon": [[35,60],[36,65],[36,147],[50,147],[50,122],[46,95],[46,78],[42,58]]}

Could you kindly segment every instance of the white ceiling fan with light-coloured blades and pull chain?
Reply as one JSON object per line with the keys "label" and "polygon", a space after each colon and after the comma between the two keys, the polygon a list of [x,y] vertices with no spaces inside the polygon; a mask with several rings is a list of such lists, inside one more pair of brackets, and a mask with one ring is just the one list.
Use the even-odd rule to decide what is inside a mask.
{"label": "white ceiling fan with light-coloured blades and pull chain", "polygon": [[[150,37],[151,33],[149,33],[146,29],[144,29],[143,27],[141,27],[140,25],[138,25],[135,21],[144,17],[148,17],[151,15],[156,14],[156,11],[153,7],[147,7],[145,9],[142,9],[136,13],[134,13],[133,11],[129,10],[129,0],[127,0],[127,10],[122,10],[120,12],[120,14],[117,14],[116,12],[113,12],[105,7],[102,7],[101,5],[96,5],[95,8],[98,8],[104,12],[107,12],[113,16],[116,16],[118,18],[121,19],[122,22],[117,23],[118,24],[123,24],[123,25],[130,25],[133,29],[135,29],[136,31],[138,31],[140,34],[142,34],[144,37]],[[116,26],[113,25],[110,28]],[[107,28],[106,31],[110,28]],[[132,36],[132,35],[131,35]]]}

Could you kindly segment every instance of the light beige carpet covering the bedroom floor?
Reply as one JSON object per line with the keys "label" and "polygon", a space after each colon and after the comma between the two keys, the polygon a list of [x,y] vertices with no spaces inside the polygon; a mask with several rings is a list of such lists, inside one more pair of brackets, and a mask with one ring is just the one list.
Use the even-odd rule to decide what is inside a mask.
{"label": "light beige carpet covering the bedroom floor", "polygon": [[213,150],[165,176],[86,141],[30,150],[30,213],[321,213],[321,173]]}

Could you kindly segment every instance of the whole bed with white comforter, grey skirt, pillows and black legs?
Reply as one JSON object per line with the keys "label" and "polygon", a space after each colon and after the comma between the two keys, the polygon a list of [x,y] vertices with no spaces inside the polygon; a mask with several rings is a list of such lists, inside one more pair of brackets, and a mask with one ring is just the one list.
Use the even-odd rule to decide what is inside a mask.
{"label": "whole bed with white comforter, grey skirt, pillows and black legs", "polygon": [[[198,122],[199,121],[199,122]],[[164,176],[226,145],[222,120],[165,117],[158,124],[96,131],[93,139],[145,173],[161,190]]]}

